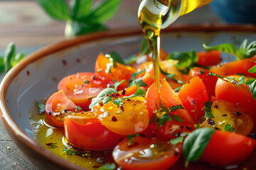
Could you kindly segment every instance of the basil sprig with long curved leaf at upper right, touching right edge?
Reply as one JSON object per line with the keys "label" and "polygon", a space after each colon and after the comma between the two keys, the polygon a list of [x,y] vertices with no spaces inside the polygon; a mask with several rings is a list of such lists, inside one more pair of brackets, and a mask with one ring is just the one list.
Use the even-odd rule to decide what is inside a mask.
{"label": "basil sprig with long curved leaf at upper right, touching right edge", "polygon": [[227,52],[231,55],[235,55],[235,57],[237,57],[238,60],[242,60],[256,55],[256,41],[251,42],[247,46],[246,45],[247,39],[245,39],[242,42],[242,44],[240,45],[240,49],[238,49],[238,47],[235,47],[235,45],[232,45],[230,43],[224,43],[215,46],[208,46],[206,44],[203,44],[203,47],[205,50],[218,50],[221,52]]}

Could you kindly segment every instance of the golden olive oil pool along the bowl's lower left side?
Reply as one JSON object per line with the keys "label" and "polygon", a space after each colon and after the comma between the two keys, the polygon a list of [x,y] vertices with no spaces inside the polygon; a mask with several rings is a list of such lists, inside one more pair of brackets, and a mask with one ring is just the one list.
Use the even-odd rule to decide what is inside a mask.
{"label": "golden olive oil pool along the bowl's lower left side", "polygon": [[[85,169],[97,169],[105,163],[114,163],[114,160],[112,159],[112,151],[80,151],[81,156],[75,154],[68,155],[67,152],[63,151],[63,149],[67,149],[65,146],[68,146],[64,137],[64,129],[55,128],[50,125],[46,118],[46,114],[39,114],[38,108],[34,103],[31,106],[29,113],[29,122],[31,129],[35,134],[34,140],[36,140],[42,147],[50,150],[50,152],[58,155],[58,157],[62,157]],[[51,144],[53,144],[53,147],[50,146]],[[103,164],[98,163],[97,159],[103,159]]]}

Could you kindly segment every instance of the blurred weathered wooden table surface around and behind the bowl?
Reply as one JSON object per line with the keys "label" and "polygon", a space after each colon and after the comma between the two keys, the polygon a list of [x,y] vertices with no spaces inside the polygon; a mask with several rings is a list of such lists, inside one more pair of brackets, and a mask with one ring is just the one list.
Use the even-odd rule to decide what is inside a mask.
{"label": "blurred weathered wooden table surface around and behind the bowl", "polygon": [[[117,15],[107,22],[110,28],[137,26],[139,0],[123,0]],[[216,23],[220,19],[203,6],[188,13],[176,23]],[[175,23],[174,23],[175,24]],[[0,56],[9,42],[26,55],[64,39],[65,23],[53,21],[35,1],[0,1]],[[26,159],[0,122],[0,169],[37,169]]]}

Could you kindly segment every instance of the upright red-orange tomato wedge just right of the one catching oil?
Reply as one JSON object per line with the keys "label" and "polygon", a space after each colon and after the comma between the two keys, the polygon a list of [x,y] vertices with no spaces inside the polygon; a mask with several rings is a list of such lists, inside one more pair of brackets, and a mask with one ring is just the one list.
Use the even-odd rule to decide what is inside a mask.
{"label": "upright red-orange tomato wedge just right of the one catching oil", "polygon": [[193,120],[198,122],[204,115],[204,105],[208,101],[206,86],[199,77],[193,77],[178,91],[178,98],[181,103],[192,116]]}

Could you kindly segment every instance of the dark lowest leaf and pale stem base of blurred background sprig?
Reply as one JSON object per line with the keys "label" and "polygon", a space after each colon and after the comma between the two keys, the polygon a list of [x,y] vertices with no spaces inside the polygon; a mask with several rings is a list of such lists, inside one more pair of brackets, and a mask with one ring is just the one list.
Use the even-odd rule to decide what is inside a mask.
{"label": "dark lowest leaf and pale stem base of blurred background sprig", "polygon": [[76,35],[94,33],[100,30],[107,30],[101,23],[82,23],[78,21],[68,21],[65,26],[65,37],[72,38]]}

